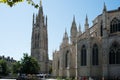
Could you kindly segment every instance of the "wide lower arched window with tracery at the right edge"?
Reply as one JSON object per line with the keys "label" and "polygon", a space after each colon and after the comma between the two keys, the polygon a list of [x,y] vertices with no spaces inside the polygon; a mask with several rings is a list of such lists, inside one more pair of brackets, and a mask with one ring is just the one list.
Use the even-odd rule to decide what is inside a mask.
{"label": "wide lower arched window with tracery at the right edge", "polygon": [[109,64],[120,64],[120,45],[117,42],[110,47]]}

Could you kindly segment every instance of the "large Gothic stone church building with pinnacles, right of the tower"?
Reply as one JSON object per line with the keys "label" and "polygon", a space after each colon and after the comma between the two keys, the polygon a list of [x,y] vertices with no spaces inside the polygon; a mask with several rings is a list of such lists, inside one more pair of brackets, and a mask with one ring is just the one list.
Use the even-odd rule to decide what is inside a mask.
{"label": "large Gothic stone church building with pinnacles, right of the tower", "polygon": [[85,31],[77,30],[75,17],[71,36],[65,31],[62,44],[53,53],[53,75],[61,77],[120,77],[120,8],[102,14],[89,27],[85,19]]}

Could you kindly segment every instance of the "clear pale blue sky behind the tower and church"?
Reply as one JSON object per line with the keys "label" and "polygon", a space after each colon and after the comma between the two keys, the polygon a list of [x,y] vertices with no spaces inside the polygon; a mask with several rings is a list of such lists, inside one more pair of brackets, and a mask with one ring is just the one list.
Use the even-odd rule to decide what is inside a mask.
{"label": "clear pale blue sky behind the tower and church", "polygon": [[[33,0],[35,3],[40,0]],[[120,7],[120,0],[43,0],[44,15],[48,16],[48,53],[59,49],[65,28],[70,36],[70,28],[75,15],[77,26],[81,24],[84,31],[86,14],[89,24],[102,13],[103,4],[107,10]],[[23,53],[30,55],[32,15],[38,9],[26,2],[19,3],[12,8],[0,4],[0,55],[11,56],[20,60]]]}

